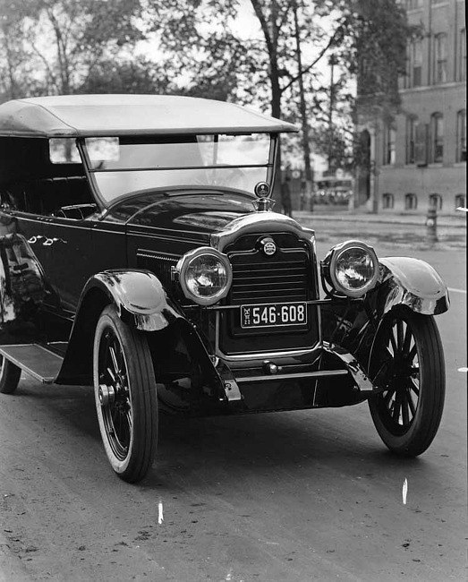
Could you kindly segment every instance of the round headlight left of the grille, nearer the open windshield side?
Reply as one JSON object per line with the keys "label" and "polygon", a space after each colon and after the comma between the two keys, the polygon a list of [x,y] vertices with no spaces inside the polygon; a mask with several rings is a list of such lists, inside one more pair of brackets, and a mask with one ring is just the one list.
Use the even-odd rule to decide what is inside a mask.
{"label": "round headlight left of the grille, nearer the open windshield side", "polygon": [[187,252],[175,268],[183,295],[200,305],[212,305],[225,297],[233,272],[227,257],[210,247]]}

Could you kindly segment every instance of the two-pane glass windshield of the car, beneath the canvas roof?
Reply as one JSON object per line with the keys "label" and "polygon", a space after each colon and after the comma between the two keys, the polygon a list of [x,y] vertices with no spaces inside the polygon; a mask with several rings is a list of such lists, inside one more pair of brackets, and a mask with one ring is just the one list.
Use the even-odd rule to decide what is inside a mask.
{"label": "two-pane glass windshield of the car, beneath the canvas roof", "polygon": [[165,187],[222,187],[253,193],[268,179],[270,135],[87,138],[89,170],[107,204]]}

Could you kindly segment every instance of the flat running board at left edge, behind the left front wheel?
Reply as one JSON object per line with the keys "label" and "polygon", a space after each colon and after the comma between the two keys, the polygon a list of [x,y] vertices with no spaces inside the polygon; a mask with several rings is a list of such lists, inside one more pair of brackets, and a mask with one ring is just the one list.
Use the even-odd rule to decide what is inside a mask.
{"label": "flat running board at left edge, behind the left front wheel", "polygon": [[55,381],[64,361],[61,355],[38,344],[0,346],[0,355],[43,384]]}

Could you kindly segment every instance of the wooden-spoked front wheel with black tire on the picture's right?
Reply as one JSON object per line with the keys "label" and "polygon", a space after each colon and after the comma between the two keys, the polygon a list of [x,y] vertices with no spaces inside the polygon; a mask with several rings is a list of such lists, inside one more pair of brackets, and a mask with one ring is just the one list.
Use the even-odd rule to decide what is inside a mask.
{"label": "wooden-spoked front wheel with black tire on the picture's right", "polygon": [[434,318],[408,308],[390,312],[374,344],[370,377],[382,365],[388,389],[370,398],[372,420],[388,449],[417,457],[436,436],[444,409],[444,352]]}

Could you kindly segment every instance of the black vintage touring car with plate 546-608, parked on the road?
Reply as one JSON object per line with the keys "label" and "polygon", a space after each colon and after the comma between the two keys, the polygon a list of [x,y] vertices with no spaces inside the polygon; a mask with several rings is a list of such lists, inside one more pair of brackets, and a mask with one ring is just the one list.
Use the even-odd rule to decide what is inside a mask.
{"label": "black vintage touring car with plate 546-608, parked on the road", "polygon": [[158,410],[227,415],[369,401],[387,447],[430,445],[444,356],[430,265],[358,240],[319,262],[273,212],[279,134],[234,104],[166,96],[0,106],[0,392],[21,370],[94,385],[107,458],[147,474]]}

